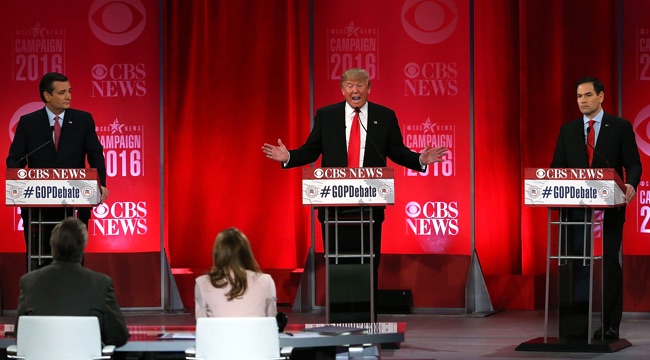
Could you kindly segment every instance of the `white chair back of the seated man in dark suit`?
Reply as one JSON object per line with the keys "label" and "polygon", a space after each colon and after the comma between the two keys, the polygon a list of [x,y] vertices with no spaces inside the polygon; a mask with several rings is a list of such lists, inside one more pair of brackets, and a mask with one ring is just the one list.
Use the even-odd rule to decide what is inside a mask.
{"label": "white chair back of the seated man in dark suit", "polygon": [[90,360],[102,356],[94,316],[21,316],[16,355],[27,360]]}

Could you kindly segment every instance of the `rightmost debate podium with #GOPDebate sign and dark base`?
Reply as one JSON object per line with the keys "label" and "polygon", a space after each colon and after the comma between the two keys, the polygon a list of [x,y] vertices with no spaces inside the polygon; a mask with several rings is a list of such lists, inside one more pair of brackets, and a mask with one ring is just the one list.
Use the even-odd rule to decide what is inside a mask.
{"label": "rightmost debate podium with #GOPDebate sign and dark base", "polygon": [[614,352],[630,346],[625,339],[592,339],[604,329],[603,239],[595,234],[602,234],[602,209],[625,205],[616,171],[527,168],[524,204],[548,208],[544,336],[516,350]]}

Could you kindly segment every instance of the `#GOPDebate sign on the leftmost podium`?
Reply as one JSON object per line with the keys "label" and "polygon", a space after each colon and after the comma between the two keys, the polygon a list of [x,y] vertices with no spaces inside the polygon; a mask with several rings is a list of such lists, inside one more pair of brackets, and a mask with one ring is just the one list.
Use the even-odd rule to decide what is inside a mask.
{"label": "#GOPDebate sign on the leftmost podium", "polygon": [[7,169],[7,206],[95,206],[96,169]]}

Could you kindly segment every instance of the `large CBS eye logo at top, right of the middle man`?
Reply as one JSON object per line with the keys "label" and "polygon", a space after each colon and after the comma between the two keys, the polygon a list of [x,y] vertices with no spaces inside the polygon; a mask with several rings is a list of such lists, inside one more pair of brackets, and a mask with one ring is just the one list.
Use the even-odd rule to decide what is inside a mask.
{"label": "large CBS eye logo at top, right of the middle man", "polygon": [[402,26],[422,44],[438,44],[456,30],[458,9],[454,0],[406,0],[402,6]]}

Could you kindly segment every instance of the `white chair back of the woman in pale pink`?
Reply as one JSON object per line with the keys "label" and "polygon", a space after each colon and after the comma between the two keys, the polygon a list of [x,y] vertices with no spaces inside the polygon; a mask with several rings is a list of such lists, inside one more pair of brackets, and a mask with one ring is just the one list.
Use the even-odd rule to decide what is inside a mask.
{"label": "white chair back of the woman in pale pink", "polygon": [[274,317],[199,318],[196,357],[205,360],[268,360],[280,356]]}

